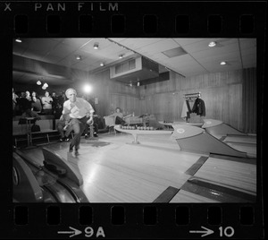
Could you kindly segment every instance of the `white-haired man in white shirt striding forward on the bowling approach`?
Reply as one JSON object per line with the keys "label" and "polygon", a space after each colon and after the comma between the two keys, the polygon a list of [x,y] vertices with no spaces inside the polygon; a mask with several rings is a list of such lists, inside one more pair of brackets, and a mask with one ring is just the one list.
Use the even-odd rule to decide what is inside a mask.
{"label": "white-haired man in white shirt striding forward on the bowling approach", "polygon": [[[93,121],[94,109],[85,99],[77,98],[77,92],[74,89],[65,91],[67,101],[63,103],[63,115],[71,117],[70,124],[72,126],[74,136],[70,143],[69,151],[75,148],[75,155],[79,155],[80,137],[88,122]],[[88,119],[89,118],[89,119]]]}

